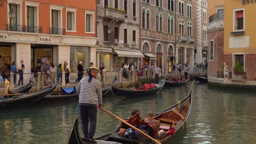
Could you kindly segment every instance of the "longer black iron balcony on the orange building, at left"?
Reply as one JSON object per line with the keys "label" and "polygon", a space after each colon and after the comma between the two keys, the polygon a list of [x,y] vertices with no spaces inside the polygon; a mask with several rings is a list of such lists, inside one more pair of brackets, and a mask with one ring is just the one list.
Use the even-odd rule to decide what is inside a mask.
{"label": "longer black iron balcony on the orange building, at left", "polygon": [[7,24],[8,31],[42,33],[42,27]]}

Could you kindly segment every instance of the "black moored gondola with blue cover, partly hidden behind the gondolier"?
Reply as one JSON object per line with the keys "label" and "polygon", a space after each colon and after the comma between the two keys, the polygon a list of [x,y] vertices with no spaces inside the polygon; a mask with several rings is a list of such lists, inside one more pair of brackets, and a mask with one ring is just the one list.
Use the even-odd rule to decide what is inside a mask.
{"label": "black moored gondola with blue cover, partly hidden behind the gondolier", "polygon": [[[117,76],[113,80],[112,85],[115,85],[116,83],[117,83]],[[102,88],[102,97],[105,97],[109,93],[110,88],[111,88],[110,84]],[[55,102],[55,101],[78,100],[78,95],[75,90],[75,87],[69,88],[69,89],[74,89],[73,91],[67,91],[67,89],[65,90],[65,88],[62,88],[62,87],[60,89],[61,89],[60,95],[48,94],[40,101],[40,103],[48,103],[53,101]]]}

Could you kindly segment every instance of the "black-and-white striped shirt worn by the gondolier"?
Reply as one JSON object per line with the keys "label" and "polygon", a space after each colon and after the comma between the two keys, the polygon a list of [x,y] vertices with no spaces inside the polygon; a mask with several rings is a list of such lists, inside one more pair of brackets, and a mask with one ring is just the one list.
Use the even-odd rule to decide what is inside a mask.
{"label": "black-and-white striped shirt worn by the gondolier", "polygon": [[77,86],[77,94],[79,95],[79,106],[96,106],[102,105],[102,86],[94,76],[88,82],[89,76],[84,77]]}

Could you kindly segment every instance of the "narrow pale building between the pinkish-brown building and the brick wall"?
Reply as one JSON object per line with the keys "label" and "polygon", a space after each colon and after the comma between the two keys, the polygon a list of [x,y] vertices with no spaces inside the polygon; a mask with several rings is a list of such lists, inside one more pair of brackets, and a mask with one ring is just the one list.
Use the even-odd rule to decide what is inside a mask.
{"label": "narrow pale building between the pinkish-brown building and the brick wall", "polygon": [[195,37],[195,50],[196,50],[196,63],[207,63],[207,26],[208,26],[208,0],[194,1],[194,28]]}

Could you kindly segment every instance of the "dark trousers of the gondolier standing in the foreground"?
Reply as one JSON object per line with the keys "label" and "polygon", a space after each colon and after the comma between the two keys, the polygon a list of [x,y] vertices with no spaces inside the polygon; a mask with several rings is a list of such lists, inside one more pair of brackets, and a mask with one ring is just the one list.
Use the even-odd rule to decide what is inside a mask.
{"label": "dark trousers of the gondolier standing in the foreground", "polygon": [[[97,123],[97,107],[92,106],[80,106],[80,114],[82,119],[82,129],[84,133],[84,138],[89,139],[94,137]],[[88,132],[90,122],[90,129]]]}

